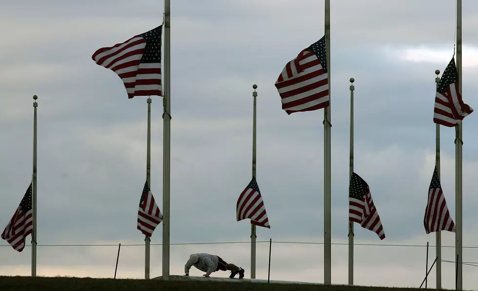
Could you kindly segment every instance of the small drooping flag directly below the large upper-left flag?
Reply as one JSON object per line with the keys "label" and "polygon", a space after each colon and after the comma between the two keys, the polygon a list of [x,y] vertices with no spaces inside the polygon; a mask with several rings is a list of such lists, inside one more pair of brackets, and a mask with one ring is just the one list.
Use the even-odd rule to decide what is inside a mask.
{"label": "small drooping flag directly below the large upper-left flag", "polygon": [[148,182],[144,183],[138,209],[138,229],[148,237],[151,237],[156,226],[162,221],[162,214],[149,189]]}

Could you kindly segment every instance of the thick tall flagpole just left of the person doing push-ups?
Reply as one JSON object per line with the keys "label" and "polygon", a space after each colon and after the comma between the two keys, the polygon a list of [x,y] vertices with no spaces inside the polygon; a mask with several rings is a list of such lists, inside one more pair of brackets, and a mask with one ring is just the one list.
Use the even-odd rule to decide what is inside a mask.
{"label": "thick tall flagpole just left of the person doing push-ups", "polygon": [[170,168],[171,168],[171,59],[170,59],[170,0],[164,0],[164,98],[163,98],[163,160],[162,160],[162,278],[169,279],[169,227],[170,227]]}

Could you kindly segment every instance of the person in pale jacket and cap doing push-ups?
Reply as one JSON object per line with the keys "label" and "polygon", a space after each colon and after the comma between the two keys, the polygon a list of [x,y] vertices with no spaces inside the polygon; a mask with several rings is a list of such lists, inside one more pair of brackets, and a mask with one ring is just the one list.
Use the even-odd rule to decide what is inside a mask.
{"label": "person in pale jacket and cap doing push-ups", "polygon": [[211,273],[216,271],[231,271],[229,278],[234,278],[239,274],[239,278],[244,278],[244,269],[239,268],[234,264],[226,263],[218,255],[210,255],[205,253],[192,254],[189,256],[186,265],[184,265],[184,275],[189,276],[189,269],[194,266],[202,272],[206,272],[203,276],[208,277]]}

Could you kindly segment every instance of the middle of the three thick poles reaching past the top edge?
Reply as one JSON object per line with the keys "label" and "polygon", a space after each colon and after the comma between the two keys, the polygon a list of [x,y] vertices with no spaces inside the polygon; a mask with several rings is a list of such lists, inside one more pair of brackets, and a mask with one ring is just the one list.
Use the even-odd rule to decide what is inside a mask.
{"label": "middle of the three thick poles reaching past the top edge", "polygon": [[[325,47],[327,54],[328,86],[330,98],[330,0],[325,0]],[[324,284],[331,284],[331,214],[330,214],[330,101],[324,109]]]}

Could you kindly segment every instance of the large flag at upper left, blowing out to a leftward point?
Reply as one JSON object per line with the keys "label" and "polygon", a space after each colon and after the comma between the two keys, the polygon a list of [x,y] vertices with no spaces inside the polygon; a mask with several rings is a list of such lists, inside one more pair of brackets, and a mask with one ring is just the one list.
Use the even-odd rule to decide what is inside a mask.
{"label": "large flag at upper left, blowing out to a leftward point", "polygon": [[128,98],[162,95],[161,30],[162,25],[112,47],[101,48],[91,57],[98,65],[118,74]]}

